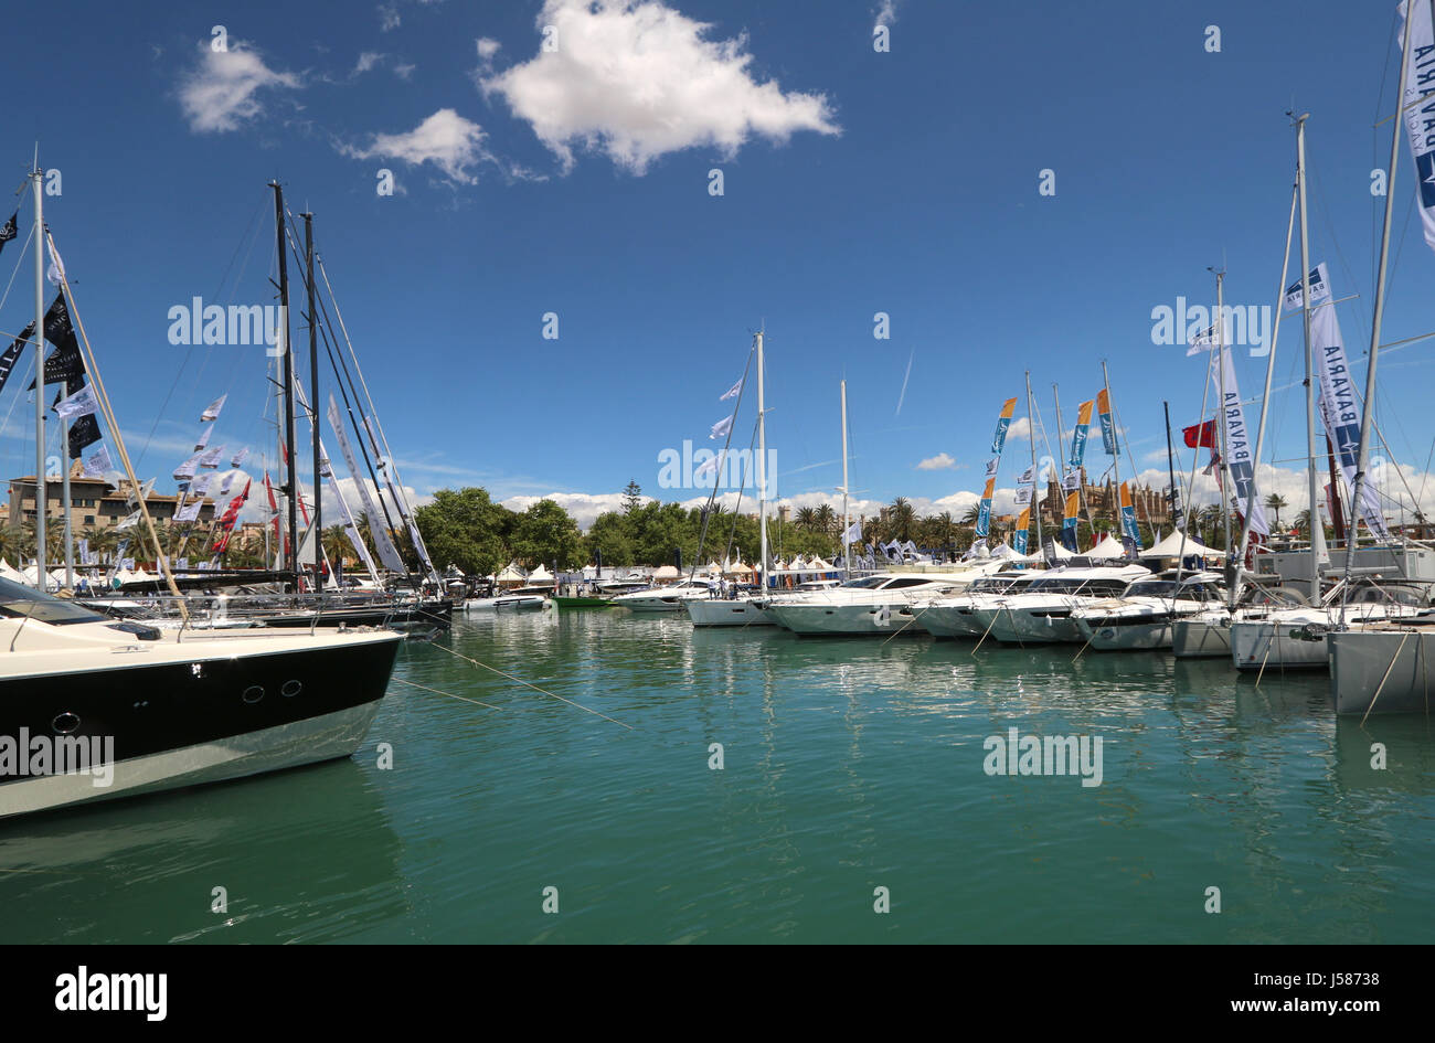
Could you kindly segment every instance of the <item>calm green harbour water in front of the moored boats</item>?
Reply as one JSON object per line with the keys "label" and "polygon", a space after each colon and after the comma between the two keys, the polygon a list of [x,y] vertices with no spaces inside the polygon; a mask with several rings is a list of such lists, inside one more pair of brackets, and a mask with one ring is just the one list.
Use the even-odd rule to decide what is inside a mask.
{"label": "calm green harbour water in front of the moored boats", "polygon": [[[410,643],[499,709],[395,683],[352,760],[0,823],[0,941],[1435,940],[1435,726],[1323,674],[623,610],[445,640],[633,730]],[[1102,736],[1102,785],[987,776],[1009,727]]]}

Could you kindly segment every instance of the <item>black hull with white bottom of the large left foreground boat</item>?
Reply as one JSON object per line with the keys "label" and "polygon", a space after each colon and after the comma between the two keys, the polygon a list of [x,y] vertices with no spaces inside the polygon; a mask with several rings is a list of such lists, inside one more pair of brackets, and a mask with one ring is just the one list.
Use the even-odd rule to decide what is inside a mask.
{"label": "black hull with white bottom of the large left foreground boat", "polygon": [[[241,778],[352,755],[393,671],[397,634],[327,648],[0,680],[0,818]],[[70,745],[106,772],[13,762],[23,739]],[[86,747],[80,755],[75,747]],[[22,756],[24,749],[19,749]]]}

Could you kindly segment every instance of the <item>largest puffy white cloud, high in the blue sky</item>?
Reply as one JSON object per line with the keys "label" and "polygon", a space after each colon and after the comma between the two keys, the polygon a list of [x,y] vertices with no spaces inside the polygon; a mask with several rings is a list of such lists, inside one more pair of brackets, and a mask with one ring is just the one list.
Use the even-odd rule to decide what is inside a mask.
{"label": "largest puffy white cloud, high in the blue sky", "polygon": [[699,145],[732,156],[753,133],[839,133],[825,95],[784,93],[749,72],[746,37],[709,40],[712,26],[659,0],[545,0],[540,26],[555,50],[479,76],[538,139],[574,162],[574,145],[643,174],[669,152]]}

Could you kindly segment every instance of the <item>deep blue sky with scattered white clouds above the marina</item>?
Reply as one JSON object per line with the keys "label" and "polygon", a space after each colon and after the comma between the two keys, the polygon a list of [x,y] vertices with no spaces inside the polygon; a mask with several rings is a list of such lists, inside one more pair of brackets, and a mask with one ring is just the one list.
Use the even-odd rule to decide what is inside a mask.
{"label": "deep blue sky with scattered white clouds above the marina", "polygon": [[[215,442],[265,439],[263,354],[187,356],[166,313],[195,296],[270,298],[277,176],[316,214],[420,496],[563,494],[587,518],[636,478],[690,499],[657,488],[659,453],[715,445],[718,396],[765,324],[781,495],[805,504],[839,483],[845,376],[860,498],[957,509],[980,489],[1002,400],[1023,396],[1026,412],[1026,369],[1055,436],[1052,383],[1069,426],[1105,359],[1135,462],[1164,475],[1161,402],[1194,423],[1204,369],[1152,344],[1152,308],[1210,303],[1220,264],[1227,303],[1276,303],[1292,105],[1312,113],[1312,261],[1337,296],[1360,294],[1340,318],[1352,357],[1365,351],[1393,16],[1383,0],[27,6],[11,39],[53,46],[43,76],[7,66],[4,141],[16,184],[36,139],[62,172],[46,214],[145,476],[184,458],[222,393]],[[544,24],[560,29],[555,53]],[[1435,255],[1408,151],[1401,162],[1385,341],[1432,329]],[[380,168],[392,197],[376,194]],[[1055,195],[1038,191],[1043,169]],[[20,242],[0,255],[4,280],[19,255]],[[30,278],[26,265],[0,329],[29,320]],[[878,311],[890,340],[872,336]],[[1297,347],[1286,324],[1277,386],[1299,376]],[[1378,403],[1416,486],[1429,351],[1391,353]],[[1264,360],[1237,367],[1253,395]],[[33,469],[19,387],[0,400],[10,473]],[[1299,509],[1296,390],[1273,399],[1270,432],[1270,485]],[[1026,452],[1009,443],[1003,486]],[[943,453],[951,466],[918,466]]]}

